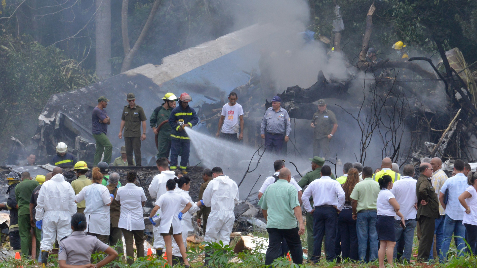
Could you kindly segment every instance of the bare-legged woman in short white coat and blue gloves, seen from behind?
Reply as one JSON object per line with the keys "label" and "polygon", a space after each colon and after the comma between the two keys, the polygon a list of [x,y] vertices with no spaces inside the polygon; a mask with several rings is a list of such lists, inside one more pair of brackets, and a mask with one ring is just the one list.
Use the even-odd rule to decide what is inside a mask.
{"label": "bare-legged woman in short white coat and blue gloves, seen from behind", "polygon": [[[192,204],[189,200],[174,192],[176,188],[176,181],[173,179],[169,179],[166,182],[167,192],[166,194],[160,196],[156,200],[156,206],[151,211],[151,215],[149,216],[152,218],[156,215],[157,210],[161,209],[161,223],[159,225],[159,232],[161,236],[164,237],[164,242],[166,244],[166,255],[172,256],[172,238],[176,240],[177,246],[179,247],[180,253],[182,258],[184,259],[184,267],[190,267],[189,262],[187,260],[186,254],[186,247],[184,247],[182,241],[182,224],[181,220],[191,207]],[[181,208],[183,208],[181,210]],[[153,225],[155,223],[153,222]],[[167,258],[167,263],[172,267],[172,258]]]}

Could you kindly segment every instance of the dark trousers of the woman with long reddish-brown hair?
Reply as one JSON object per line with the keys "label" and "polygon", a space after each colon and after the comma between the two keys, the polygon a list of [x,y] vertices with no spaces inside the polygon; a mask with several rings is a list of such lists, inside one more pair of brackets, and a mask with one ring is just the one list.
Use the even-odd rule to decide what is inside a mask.
{"label": "dark trousers of the woman with long reddish-brown hair", "polygon": [[341,234],[341,253],[344,259],[358,260],[358,236],[356,220],[353,220],[353,209],[343,209],[338,216]]}

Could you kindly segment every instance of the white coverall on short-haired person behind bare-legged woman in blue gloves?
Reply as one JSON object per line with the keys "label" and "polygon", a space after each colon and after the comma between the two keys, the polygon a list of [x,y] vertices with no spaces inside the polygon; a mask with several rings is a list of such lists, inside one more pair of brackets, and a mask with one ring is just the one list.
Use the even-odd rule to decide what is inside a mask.
{"label": "white coverall on short-haired person behind bare-legged woman in blue gloves", "polygon": [[[157,174],[156,176],[154,176],[148,188],[149,195],[152,198],[156,199],[157,201],[157,199],[159,199],[160,196],[164,195],[167,192],[167,189],[166,189],[167,180],[174,179],[175,177],[176,177],[176,173],[170,170],[162,171],[160,174]],[[153,247],[155,249],[165,248],[166,243],[164,243],[164,238],[161,236],[161,233],[159,232],[159,226],[153,227],[153,232],[154,232]]]}

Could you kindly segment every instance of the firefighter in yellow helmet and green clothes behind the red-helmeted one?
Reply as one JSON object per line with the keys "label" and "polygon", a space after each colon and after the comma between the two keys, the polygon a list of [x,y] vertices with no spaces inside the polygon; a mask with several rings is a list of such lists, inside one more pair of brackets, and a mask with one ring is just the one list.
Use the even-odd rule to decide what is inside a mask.
{"label": "firefighter in yellow helmet and green clothes behind the red-helmeted one", "polygon": [[173,93],[166,93],[162,99],[164,103],[154,109],[151,117],[149,117],[149,123],[154,134],[156,134],[157,159],[161,157],[168,159],[171,150],[171,126],[167,123],[172,109],[176,108],[178,99]]}

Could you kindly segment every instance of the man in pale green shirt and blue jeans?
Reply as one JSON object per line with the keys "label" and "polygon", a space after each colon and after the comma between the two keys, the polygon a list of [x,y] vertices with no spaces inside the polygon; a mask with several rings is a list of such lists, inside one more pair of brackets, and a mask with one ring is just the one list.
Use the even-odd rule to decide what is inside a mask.
{"label": "man in pale green shirt and blue jeans", "polygon": [[[353,219],[356,221],[358,236],[358,255],[361,261],[373,261],[378,258],[378,234],[376,232],[376,200],[379,194],[379,184],[373,180],[373,169],[363,167],[362,182],[354,186],[350,195],[353,207]],[[366,249],[369,242],[369,260],[366,259]]]}

